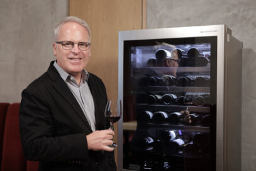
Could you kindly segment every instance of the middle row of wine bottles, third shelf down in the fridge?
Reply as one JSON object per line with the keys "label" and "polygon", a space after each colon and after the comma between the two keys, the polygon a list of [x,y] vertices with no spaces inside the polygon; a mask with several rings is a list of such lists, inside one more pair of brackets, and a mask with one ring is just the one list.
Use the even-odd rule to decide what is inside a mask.
{"label": "middle row of wine bottles, third shelf down in the fridge", "polygon": [[179,104],[189,106],[206,106],[209,105],[210,96],[208,93],[187,93],[186,96],[177,97],[175,94],[150,94],[147,97],[148,104]]}

